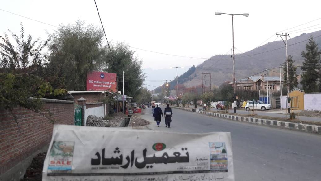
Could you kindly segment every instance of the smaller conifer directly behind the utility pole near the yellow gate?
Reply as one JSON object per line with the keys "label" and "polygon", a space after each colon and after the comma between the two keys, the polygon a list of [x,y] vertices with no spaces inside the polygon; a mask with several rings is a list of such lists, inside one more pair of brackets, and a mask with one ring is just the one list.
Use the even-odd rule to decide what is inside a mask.
{"label": "smaller conifer directly behind the utility pole near the yellow gate", "polygon": [[[292,59],[292,56],[288,56],[288,65],[289,65],[289,85],[290,85],[290,90],[292,90],[294,87],[298,86],[298,75],[297,75],[297,67],[295,67],[293,65],[293,63],[295,62],[295,60]],[[283,66],[283,72],[286,72],[287,69],[287,65],[286,62],[284,62],[282,64]],[[284,73],[283,74],[283,79],[285,84],[283,84],[283,86],[288,86],[288,78],[287,78],[287,74]]]}

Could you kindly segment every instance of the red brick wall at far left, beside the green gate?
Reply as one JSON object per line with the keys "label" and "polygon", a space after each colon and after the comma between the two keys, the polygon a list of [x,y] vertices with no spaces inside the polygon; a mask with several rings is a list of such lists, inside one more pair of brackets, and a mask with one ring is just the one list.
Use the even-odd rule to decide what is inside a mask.
{"label": "red brick wall at far left, beside the green gate", "polygon": [[[52,113],[55,124],[74,124],[73,103],[45,102],[43,108]],[[0,175],[46,146],[52,136],[53,123],[39,113],[17,107],[13,114],[0,109]]]}

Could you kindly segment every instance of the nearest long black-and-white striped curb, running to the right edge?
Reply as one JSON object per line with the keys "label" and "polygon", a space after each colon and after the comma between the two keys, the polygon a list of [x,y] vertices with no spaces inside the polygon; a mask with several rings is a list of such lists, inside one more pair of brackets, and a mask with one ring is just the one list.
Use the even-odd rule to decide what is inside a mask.
{"label": "nearest long black-and-white striped curb, running to the right edge", "polygon": [[282,128],[287,128],[287,129],[300,130],[300,131],[321,134],[321,126],[316,126],[316,125],[293,123],[293,122],[283,122],[283,121],[251,118],[251,117],[244,117],[244,116],[234,116],[234,115],[230,115],[230,114],[213,113],[213,112],[207,112],[207,111],[200,111],[199,113],[206,114],[209,116],[219,117],[219,118],[231,119],[233,121],[280,126]]}

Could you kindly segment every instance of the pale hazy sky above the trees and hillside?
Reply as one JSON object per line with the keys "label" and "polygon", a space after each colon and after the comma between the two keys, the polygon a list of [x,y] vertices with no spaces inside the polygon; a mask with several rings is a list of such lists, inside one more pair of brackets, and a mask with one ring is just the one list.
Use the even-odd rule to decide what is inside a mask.
{"label": "pale hazy sky above the trees and hillside", "polygon": [[[234,16],[236,53],[246,52],[276,40],[276,32],[291,31],[290,36],[294,37],[321,30],[321,2],[312,0],[285,0],[282,5],[280,1],[273,0],[96,0],[96,3],[108,41],[128,43],[143,60],[144,69],[191,67],[211,56],[230,53],[232,18],[227,14],[216,16],[215,12],[250,14],[248,17]],[[0,0],[0,9],[2,35],[7,29],[19,33],[20,23],[23,23],[26,34],[31,34],[34,38],[41,37],[42,40],[48,37],[48,33],[54,32],[54,26],[73,24],[78,19],[87,24],[101,26],[94,0]],[[298,26],[301,24],[304,25]],[[289,28],[292,29],[283,31]],[[171,77],[174,76],[175,71]],[[148,77],[146,79],[148,80]],[[160,76],[160,79],[163,78]],[[156,84],[159,86],[159,83]]]}

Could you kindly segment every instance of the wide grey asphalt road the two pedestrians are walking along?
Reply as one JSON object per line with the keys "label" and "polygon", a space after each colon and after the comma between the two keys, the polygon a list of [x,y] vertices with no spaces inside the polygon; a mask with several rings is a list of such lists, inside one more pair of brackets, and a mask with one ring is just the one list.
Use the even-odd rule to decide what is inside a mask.
{"label": "wide grey asphalt road the two pedestrians are walking along", "polygon": [[[162,106],[162,110],[164,107]],[[171,128],[153,122],[151,109],[143,119],[152,130],[204,133],[231,132],[235,180],[237,181],[320,181],[321,136],[229,121],[173,109]]]}

